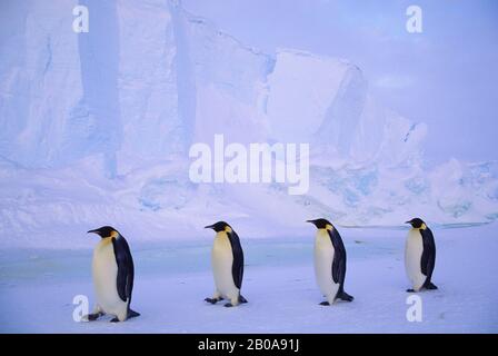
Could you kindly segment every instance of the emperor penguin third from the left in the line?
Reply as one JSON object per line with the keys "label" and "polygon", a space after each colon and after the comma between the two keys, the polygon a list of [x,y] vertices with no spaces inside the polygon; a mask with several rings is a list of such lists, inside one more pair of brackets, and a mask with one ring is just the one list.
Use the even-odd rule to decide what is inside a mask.
{"label": "emperor penguin third from the left in the line", "polygon": [[352,301],[353,297],[345,291],[346,248],[339,231],[326,219],[307,220],[318,231],[315,238],[315,276],[326,301],[331,305],[336,299]]}

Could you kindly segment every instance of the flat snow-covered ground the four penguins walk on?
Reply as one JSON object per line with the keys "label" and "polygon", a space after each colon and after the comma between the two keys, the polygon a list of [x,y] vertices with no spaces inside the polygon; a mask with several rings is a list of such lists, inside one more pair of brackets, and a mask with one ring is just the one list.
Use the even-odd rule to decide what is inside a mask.
{"label": "flat snow-covered ground the four penguins walk on", "polygon": [[341,229],[349,254],[346,290],[356,299],[332,307],[318,305],[311,227],[300,238],[241,236],[249,304],[237,308],[203,301],[212,291],[209,231],[161,244],[129,236],[137,268],[132,306],[141,316],[121,324],[72,319],[76,295],[93,301],[90,249],[2,249],[0,332],[497,333],[497,227],[435,229],[439,290],[419,294],[421,323],[406,318],[402,229]]}

